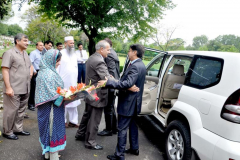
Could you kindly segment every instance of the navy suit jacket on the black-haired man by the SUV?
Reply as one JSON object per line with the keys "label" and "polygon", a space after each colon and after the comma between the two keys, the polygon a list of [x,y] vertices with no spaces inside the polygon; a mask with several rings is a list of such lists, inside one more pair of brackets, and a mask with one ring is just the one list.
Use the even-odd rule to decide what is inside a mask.
{"label": "navy suit jacket on the black-haired man by the SUV", "polygon": [[[141,112],[145,76],[146,67],[142,60],[138,59],[126,69],[119,81],[107,81],[106,87],[119,89],[117,107],[119,115],[133,116]],[[127,90],[133,85],[136,85],[140,91]]]}

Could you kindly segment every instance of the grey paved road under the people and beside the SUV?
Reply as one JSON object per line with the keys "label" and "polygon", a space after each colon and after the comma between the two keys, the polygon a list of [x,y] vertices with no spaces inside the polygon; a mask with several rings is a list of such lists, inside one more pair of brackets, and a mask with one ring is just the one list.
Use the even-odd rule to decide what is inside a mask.
{"label": "grey paved road under the people and beside the SUV", "polygon": [[[85,104],[79,109],[79,121],[81,120]],[[31,133],[31,136],[19,136],[19,140],[8,140],[0,136],[0,160],[41,160],[41,147],[38,141],[37,111],[27,110],[30,118],[24,120],[24,129]],[[99,129],[104,128],[102,118]],[[145,121],[138,119],[140,155],[126,155],[126,160],[164,160],[163,134]],[[0,110],[0,130],[2,131],[2,111]],[[83,142],[76,141],[74,136],[76,128],[67,128],[67,146],[61,152],[62,160],[106,160],[106,156],[114,153],[117,136],[97,137],[97,142],[104,147],[102,151],[85,149]],[[129,143],[127,144],[129,146]]]}

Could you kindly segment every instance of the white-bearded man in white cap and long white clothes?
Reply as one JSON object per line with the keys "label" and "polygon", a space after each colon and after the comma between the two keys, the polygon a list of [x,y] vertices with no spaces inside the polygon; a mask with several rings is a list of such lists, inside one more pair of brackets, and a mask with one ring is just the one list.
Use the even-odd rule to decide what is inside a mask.
{"label": "white-bearded man in white cap and long white clothes", "polygon": [[[72,36],[64,38],[65,49],[61,50],[61,64],[57,68],[58,74],[64,82],[64,88],[69,89],[70,86],[77,85],[78,78],[78,62],[74,49],[74,39]],[[65,106],[65,126],[78,128],[78,111],[77,106],[80,100],[76,100]],[[67,113],[69,114],[69,124],[67,124]]]}

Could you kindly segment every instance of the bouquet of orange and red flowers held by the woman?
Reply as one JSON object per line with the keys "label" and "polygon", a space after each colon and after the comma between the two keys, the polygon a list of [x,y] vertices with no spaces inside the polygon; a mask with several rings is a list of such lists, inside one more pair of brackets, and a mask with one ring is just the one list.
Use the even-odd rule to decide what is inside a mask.
{"label": "bouquet of orange and red flowers held by the woman", "polygon": [[98,101],[99,97],[97,96],[95,90],[104,86],[105,85],[95,87],[94,85],[91,85],[91,82],[89,85],[78,83],[77,86],[71,86],[69,89],[62,89],[61,87],[58,87],[56,92],[65,98],[70,98],[75,95],[76,98],[74,100],[88,98],[89,100]]}

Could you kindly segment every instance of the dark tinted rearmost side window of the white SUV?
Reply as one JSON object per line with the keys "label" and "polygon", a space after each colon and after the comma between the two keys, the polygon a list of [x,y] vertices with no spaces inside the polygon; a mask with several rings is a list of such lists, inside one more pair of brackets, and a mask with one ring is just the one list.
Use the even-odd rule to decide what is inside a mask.
{"label": "dark tinted rearmost side window of the white SUV", "polygon": [[220,82],[223,60],[213,57],[195,56],[186,76],[185,84],[199,89]]}

